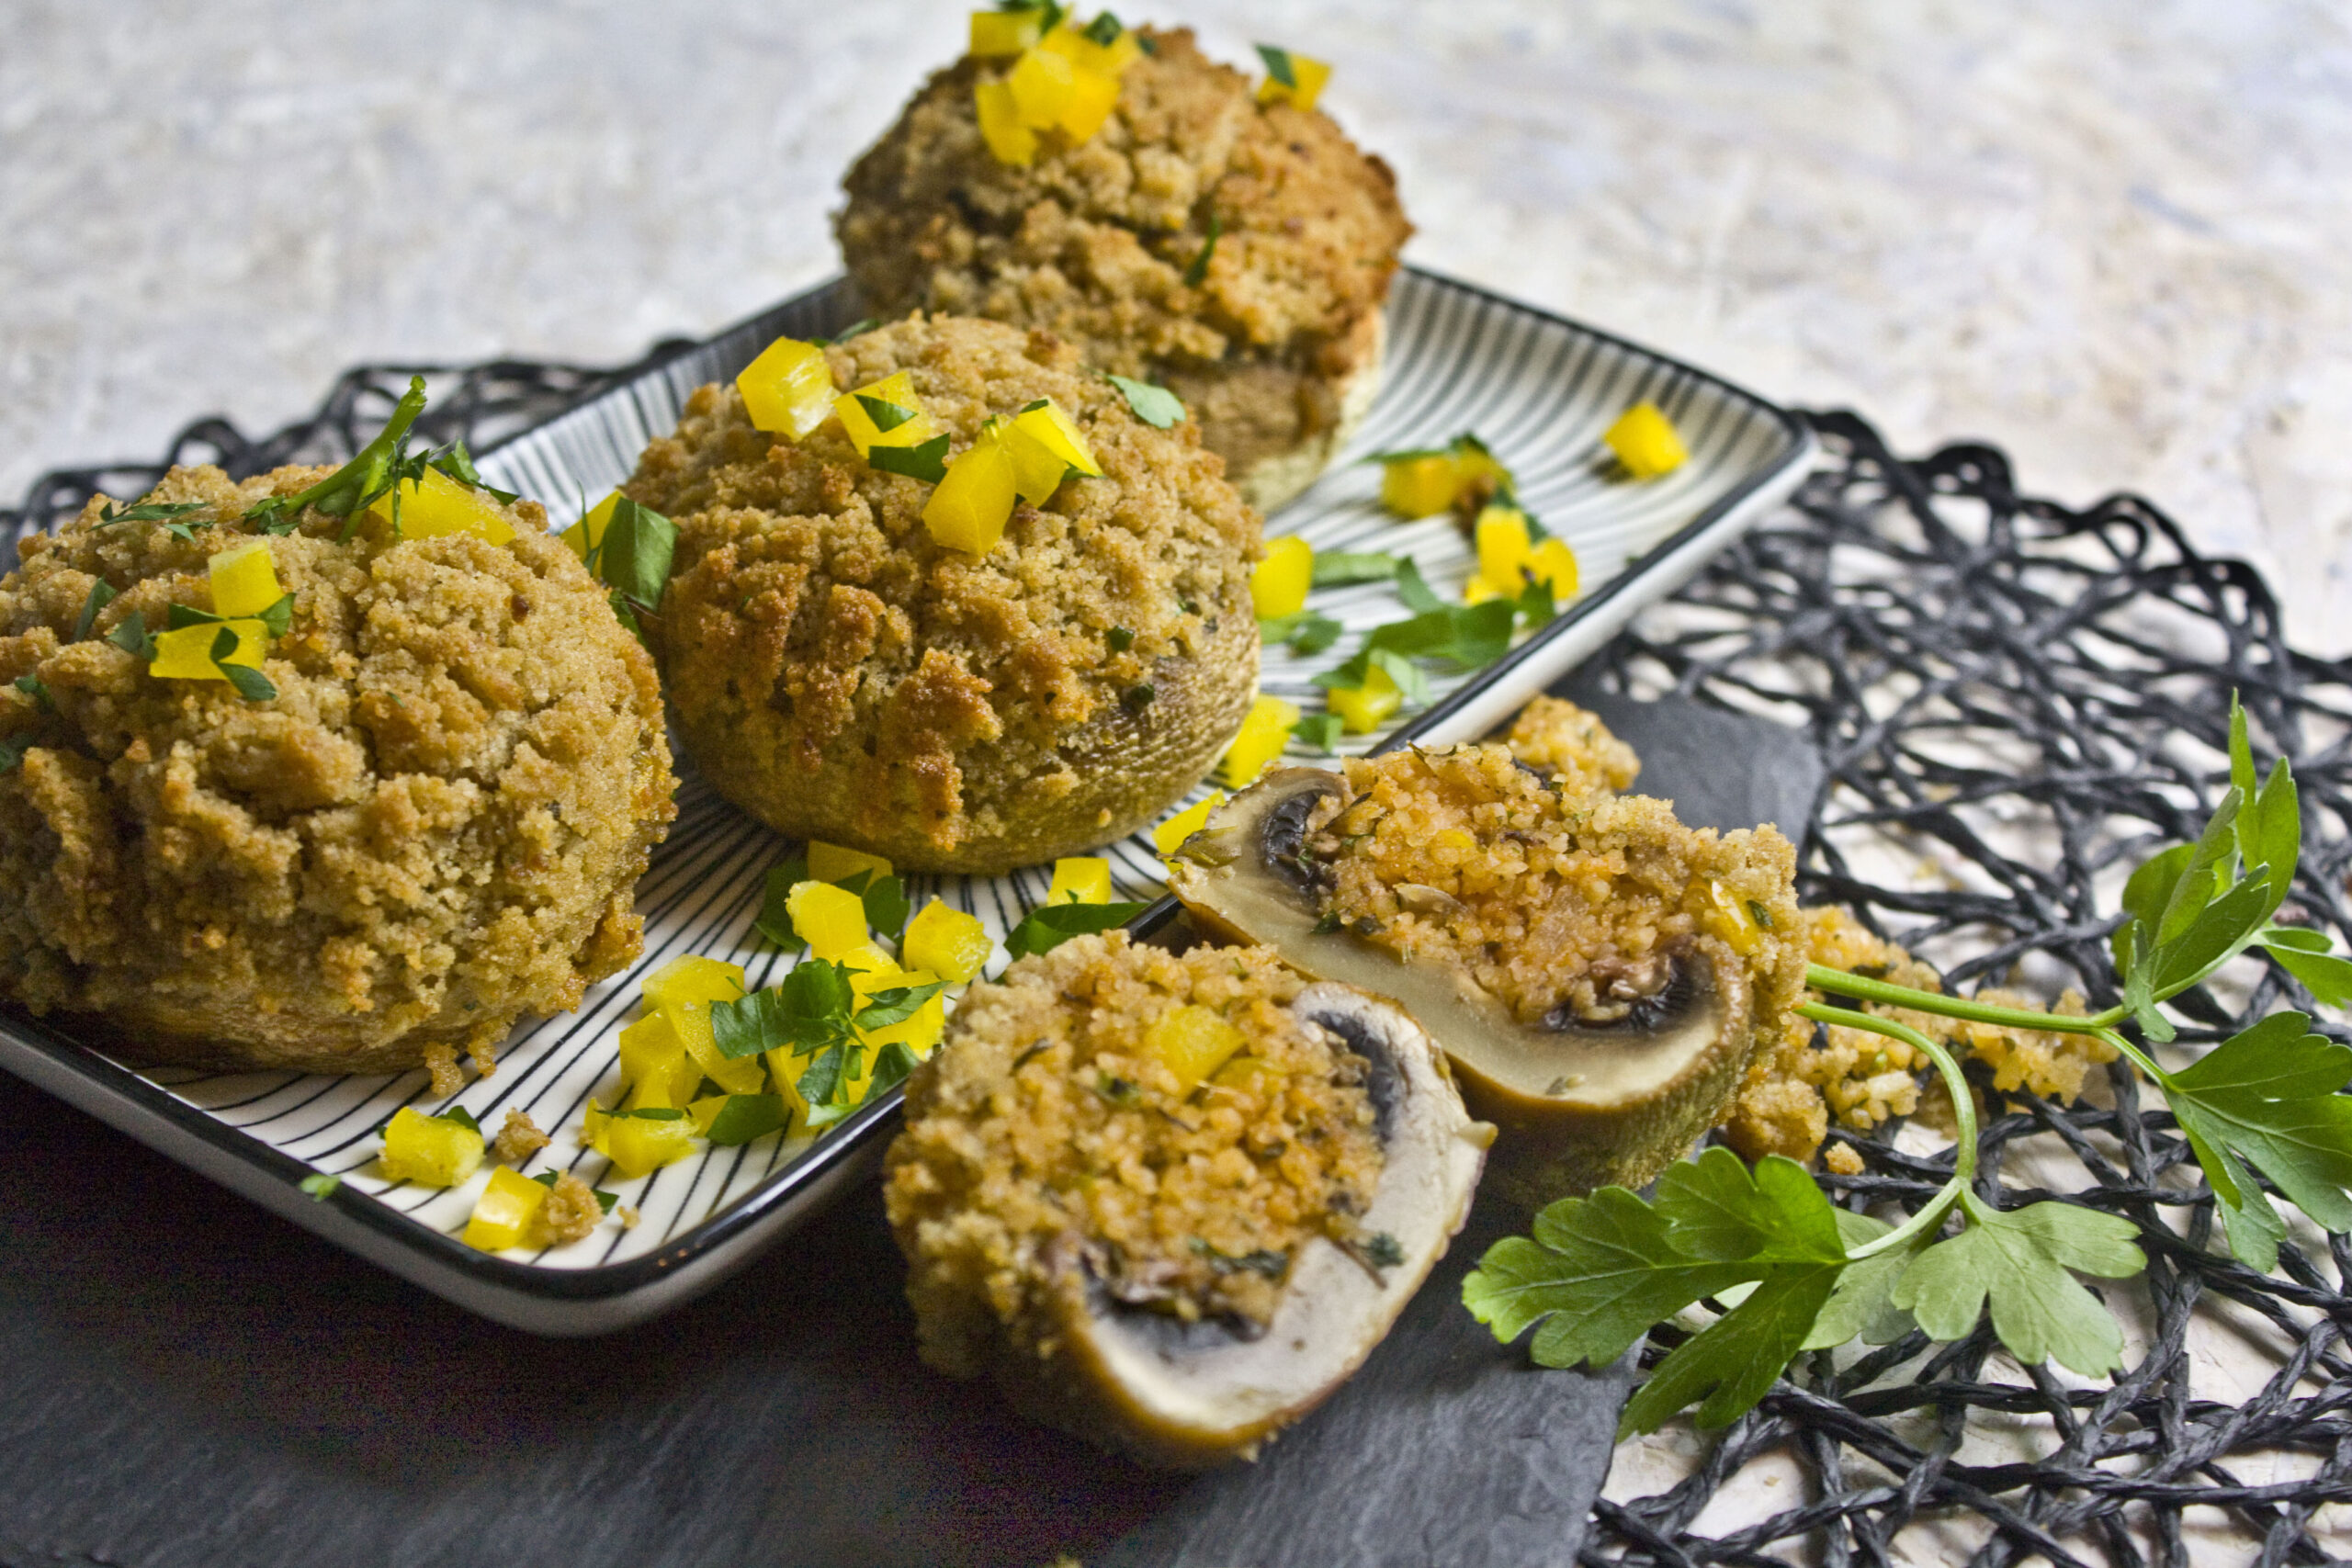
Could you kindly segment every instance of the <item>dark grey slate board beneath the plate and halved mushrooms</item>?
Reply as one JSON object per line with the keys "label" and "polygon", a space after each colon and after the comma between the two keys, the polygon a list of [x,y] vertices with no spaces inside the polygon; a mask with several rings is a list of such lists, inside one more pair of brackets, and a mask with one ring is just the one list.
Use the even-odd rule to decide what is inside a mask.
{"label": "dark grey slate board beneath the plate and halved mushrooms", "polygon": [[[1684,820],[1806,818],[1795,736],[1604,708]],[[0,1077],[0,1563],[1573,1563],[1625,1371],[1461,1312],[1512,1225],[1258,1465],[1164,1476],[917,1366],[873,1187],[668,1319],[534,1340]]]}

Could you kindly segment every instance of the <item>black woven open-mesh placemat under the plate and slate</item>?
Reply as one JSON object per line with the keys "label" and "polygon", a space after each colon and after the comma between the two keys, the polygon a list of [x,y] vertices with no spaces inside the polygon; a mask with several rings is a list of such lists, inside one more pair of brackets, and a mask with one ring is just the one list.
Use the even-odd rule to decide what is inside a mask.
{"label": "black woven open-mesh placemat under the plate and slate", "polygon": [[[480,451],[675,350],[604,371],[355,369],[318,414],[275,435],[202,421],[162,463],[52,473],[24,508],[0,510],[0,534],[54,527],[99,489],[136,496],[169,463],[252,475],[341,461],[412,369],[435,393],[421,435]],[[2074,985],[2105,1006],[2114,889],[2152,844],[2192,837],[2227,783],[2220,748],[2237,689],[2256,752],[2291,757],[2303,785],[2305,856],[2284,914],[2352,936],[2352,665],[2291,651],[2249,567],[2199,557],[2131,496],[2082,512],[2025,498],[1990,447],[1905,463],[1851,414],[1813,423],[1825,456],[1792,505],[1602,656],[1616,689],[1677,689],[1811,733],[1832,788],[1804,844],[1809,903],[1853,907],[1962,990],[2023,966],[2025,985]],[[2199,1027],[2183,1041],[2220,1039],[2237,1018],[2298,999],[2277,973],[2237,994],[2192,992],[2180,1009]],[[1987,1566],[2171,1566],[2220,1521],[2230,1528],[2197,1540],[2260,1542],[2265,1566],[2336,1561],[2312,1516],[2352,1502],[2352,1248],[2305,1232],[2281,1248],[2279,1276],[2230,1262],[2213,1251],[2213,1201],[2173,1119],[2122,1065],[2107,1086],[2093,1095],[2103,1103],[2065,1107],[1983,1081],[1980,1180],[2056,1140],[2079,1180],[2011,1187],[2011,1201],[2065,1197],[2140,1227],[2147,1274],[2105,1286],[2145,1345],[2119,1375],[2023,1373],[1985,1328],[1943,1347],[1912,1335],[1860,1356],[1809,1356],[1686,1481],[1602,1502],[1583,1559],[1846,1568],[1947,1556],[1957,1542]],[[1950,1173],[1950,1154],[1905,1154],[1893,1131],[1835,1133],[1865,1161],[1860,1175],[1825,1178],[1849,1204],[1915,1206]],[[2251,1399],[2199,1389],[2211,1363],[2194,1333],[2213,1298],[2237,1305],[2244,1354],[2274,1366]],[[1649,1356],[1672,1340],[1653,1335]],[[1964,1450],[1987,1422],[2032,1458]],[[2279,1453],[2300,1455],[2298,1479],[2241,1481],[2249,1458],[2267,1467]],[[1790,1507],[1724,1535],[1693,1530],[1712,1497],[1773,1455],[1804,1472]],[[2185,1530],[2190,1507],[2211,1514]],[[1926,1523],[1943,1526],[1936,1542],[1896,1540]]]}

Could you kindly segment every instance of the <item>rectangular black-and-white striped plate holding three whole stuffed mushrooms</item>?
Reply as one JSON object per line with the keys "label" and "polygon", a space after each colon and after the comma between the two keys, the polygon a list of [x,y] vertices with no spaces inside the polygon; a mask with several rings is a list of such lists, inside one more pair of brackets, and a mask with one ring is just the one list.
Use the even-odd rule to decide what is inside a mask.
{"label": "rectangular black-and-white striped plate holding three whole stuffed mushrooms", "polygon": [[[687,395],[734,376],[776,336],[821,336],[858,315],[847,280],[800,294],[644,376],[604,393],[482,456],[482,475],[543,498],[562,522],[579,498],[628,477],[640,449],[670,433]],[[1606,642],[1642,604],[1670,592],[1700,559],[1785,496],[1806,468],[1802,421],[1705,371],[1468,284],[1404,273],[1390,301],[1388,371],[1355,449],[1305,496],[1268,520],[1268,534],[1303,534],[1317,550],[1411,555],[1439,595],[1461,595],[1470,550],[1449,517],[1399,524],[1378,505],[1378,468],[1352,458],[1430,447],[1475,430],[1517,475],[1519,496],[1583,567],[1585,592],[1501,663],[1435,679],[1430,708],[1378,736],[1404,741],[1484,736],[1545,684]],[[1668,411],[1691,461],[1663,480],[1630,482],[1606,461],[1602,430],[1630,404]],[[1322,592],[1315,607],[1348,635],[1327,654],[1270,649],[1263,689],[1322,708],[1310,675],[1345,658],[1357,637],[1402,611],[1390,585]],[[677,954],[746,966],[769,985],[786,966],[750,929],[762,877],[786,844],[734,811],[680,757],[680,816],[637,886],[644,957],[593,987],[576,1013],[529,1023],[499,1056],[494,1077],[456,1103],[487,1128],[527,1110],[555,1143],[532,1161],[579,1168],[614,1187],[637,1225],[600,1227],[588,1241],[485,1255],[463,1229],[482,1175],[435,1192],[376,1173],[376,1128],[400,1105],[428,1100],[421,1072],[400,1077],[134,1072],[38,1023],[0,1016],[0,1065],[73,1100],[143,1143],[278,1213],[487,1316],[539,1333],[602,1333],[675,1307],[807,1220],[873,1171],[896,1121],[898,1095],[809,1143],[762,1138],[713,1147],[635,1182],[614,1182],[576,1143],[581,1107],[616,1088],[614,1037],[635,1013],[637,980]],[[1197,792],[1195,797],[1197,799]],[[1185,802],[1190,804],[1190,802]],[[1148,835],[1108,846],[1120,898],[1157,898],[1160,860]],[[915,877],[917,907],[938,896],[1002,938],[1044,896],[1049,867],[1007,877]],[[341,1185],[313,1201],[313,1173]]]}

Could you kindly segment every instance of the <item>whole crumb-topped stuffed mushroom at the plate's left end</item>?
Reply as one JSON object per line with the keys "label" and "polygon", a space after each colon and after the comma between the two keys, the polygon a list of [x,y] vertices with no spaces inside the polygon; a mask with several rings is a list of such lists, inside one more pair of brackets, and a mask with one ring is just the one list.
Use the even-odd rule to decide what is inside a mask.
{"label": "whole crumb-topped stuffed mushroom at the plate's left end", "polygon": [[[176,468],[193,541],[99,524],[0,581],[0,994],[106,1013],[127,1053],[383,1072],[485,1053],[635,954],[628,893],[673,816],[644,649],[534,503],[517,538],[395,541],[306,515],[270,557],[294,618],[278,696],[158,679],[106,632],[209,607],[207,555],[325,470]],[[92,583],[115,597],[73,642]]]}

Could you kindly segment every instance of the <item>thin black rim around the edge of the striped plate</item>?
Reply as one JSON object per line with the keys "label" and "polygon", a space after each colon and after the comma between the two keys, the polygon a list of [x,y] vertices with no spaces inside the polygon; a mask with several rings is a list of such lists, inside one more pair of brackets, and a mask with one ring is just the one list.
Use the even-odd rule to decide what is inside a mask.
{"label": "thin black rim around the edge of the striped plate", "polygon": [[[1446,277],[1428,268],[1406,268],[1406,270],[1421,277],[1423,282],[1435,284],[1437,289],[1468,296],[1470,301],[1491,308],[1512,310],[1552,327],[1564,327],[1585,339],[1611,346],[1621,353],[1637,355],[1651,362],[1656,369],[1684,376],[1698,386],[1710,386],[1724,397],[1748,404],[1755,414],[1769,416],[1780,428],[1785,444],[1776,456],[1759,463],[1736,487],[1731,487],[1729,491],[1717,496],[1710,505],[1705,505],[1696,517],[1691,517],[1691,522],[1682,524],[1670,536],[1665,536],[1663,541],[1644,550],[1639,557],[1628,562],[1621,571],[1616,571],[1609,578],[1609,583],[1581,597],[1573,609],[1562,611],[1550,625],[1531,635],[1526,642],[1505,654],[1501,661],[1472,675],[1468,682],[1463,682],[1461,689],[1456,689],[1444,701],[1435,703],[1418,719],[1399,726],[1392,736],[1383,741],[1381,750],[1411,745],[1421,736],[1428,736],[1437,726],[1446,724],[1470,701],[1512,679],[1512,675],[1522,670],[1531,658],[1536,658],[1545,649],[1545,644],[1555,642],[1557,637],[1564,637],[1578,623],[1602,614],[1604,607],[1609,607],[1621,595],[1630,592],[1632,583],[1637,583],[1644,574],[1649,574],[1658,562],[1668,559],[1670,555],[1689,545],[1693,538],[1703,536],[1731,510],[1745,505],[1750,496],[1755,496],[1759,489],[1764,489],[1776,477],[1788,473],[1790,465],[1802,461],[1804,454],[1811,449],[1811,430],[1799,414],[1783,409],[1780,404],[1773,404],[1712,371],[1705,371],[1696,364],[1686,364],[1653,348],[1644,348],[1618,334],[1602,331],[1599,327],[1588,327],[1585,322],[1578,322],[1573,317],[1515,301],[1505,294],[1496,294],[1494,289],[1484,289],[1479,284],[1461,282],[1456,277]],[[769,317],[776,317],[795,306],[802,306],[830,289],[840,289],[842,282],[844,282],[842,277],[828,277],[826,282],[802,289],[800,294],[793,294],[790,299],[776,306],[757,310],[755,315],[743,317],[741,322],[734,322],[731,327],[724,327],[722,331],[715,331],[708,339],[659,343],[642,360],[628,364],[623,374],[616,374],[612,378],[597,378],[597,383],[593,383],[593,390],[581,395],[574,404],[555,409],[548,416],[536,418],[524,428],[501,433],[499,440],[487,442],[477,456],[489,456],[522,440],[524,435],[541,430],[555,418],[562,418],[581,407],[588,407],[600,397],[609,397],[616,390],[633,386],[647,376],[661,374],[677,360],[701,348],[708,348],[710,343],[729,339],[739,331],[748,331],[760,322],[767,322]],[[501,364],[515,364],[515,362],[501,362]],[[339,395],[350,383],[353,376],[343,376],[339,381]],[[219,444],[221,442],[219,433],[228,428],[221,421],[205,421],[202,425],[191,428],[191,435],[195,435],[198,430],[202,430],[200,440]],[[73,470],[73,475],[49,475],[33,484],[31,496],[40,498],[45,494],[56,494],[59,482],[68,477],[80,477],[85,473],[87,475],[118,473],[122,468],[134,468],[134,465],[113,465],[106,470]],[[47,508],[40,505],[38,501],[28,501],[24,512],[19,512],[19,522],[24,520],[31,520],[35,524],[45,522],[45,517],[33,515],[35,510],[45,512]],[[0,517],[7,515],[0,512]],[[1176,907],[1178,905],[1174,898],[1160,898],[1148,910],[1143,910],[1129,924],[1129,929],[1136,931],[1138,936],[1148,936],[1162,929],[1176,914]],[[534,1300],[555,1300],[555,1302],[609,1302],[644,1291],[649,1286],[677,1279],[687,1265],[708,1258],[710,1253],[724,1248],[743,1232],[757,1227],[762,1220],[769,1218],[769,1213],[776,1206],[786,1204],[802,1187],[826,1180],[844,1164],[851,1164],[861,1154],[866,1154],[880,1138],[884,1138],[894,1128],[898,1117],[898,1105],[903,1098],[901,1088],[891,1088],[882,1100],[875,1100],[873,1105],[858,1110],[837,1131],[814,1143],[800,1159],[776,1171],[760,1187],[739,1199],[731,1208],[703,1220],[701,1225],[694,1225],[673,1241],[666,1241],[654,1251],[640,1253],[623,1262],[562,1269],[534,1262],[513,1262],[506,1258],[480,1253],[459,1241],[456,1237],[433,1229],[430,1225],[414,1220],[407,1213],[355,1190],[353,1192],[334,1190],[325,1199],[310,1199],[299,1190],[299,1182],[306,1175],[315,1175],[315,1171],[308,1164],[261,1143],[259,1138],[245,1135],[242,1131],[228,1126],[226,1121],[209,1117],[207,1112],[172,1095],[162,1086],[139,1077],[129,1067],[122,1067],[120,1063],[101,1056],[92,1046],[85,1046],[61,1034],[59,1030],[52,1030],[49,1025],[26,1016],[21,1009],[9,1006],[0,1011],[0,1034],[7,1034],[14,1044],[49,1058],[59,1070],[85,1079],[92,1088],[101,1091],[103,1095],[118,1103],[127,1103],[143,1117],[162,1119],[172,1124],[179,1133],[207,1145],[216,1154],[240,1161],[249,1166],[256,1175],[278,1182],[278,1187],[282,1187],[285,1192],[285,1199],[275,1204],[275,1211],[289,1220],[303,1222],[306,1220],[303,1208],[308,1208],[315,1201],[325,1208],[332,1208],[341,1220],[353,1222],[390,1244],[397,1244],[416,1253],[435,1272],[466,1279],[473,1286],[487,1286],[496,1293],[534,1298]],[[94,1112],[94,1107],[89,1105],[82,1105],[82,1110]],[[259,1194],[254,1192],[247,1192],[247,1197],[266,1201],[259,1199]],[[329,1234],[329,1239],[334,1237]]]}

